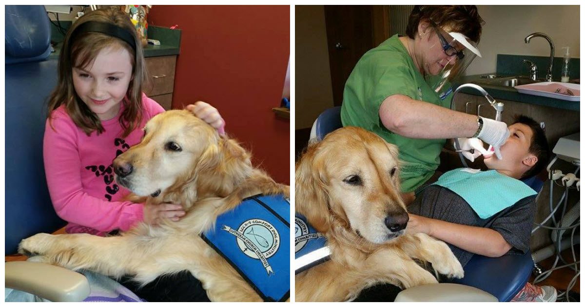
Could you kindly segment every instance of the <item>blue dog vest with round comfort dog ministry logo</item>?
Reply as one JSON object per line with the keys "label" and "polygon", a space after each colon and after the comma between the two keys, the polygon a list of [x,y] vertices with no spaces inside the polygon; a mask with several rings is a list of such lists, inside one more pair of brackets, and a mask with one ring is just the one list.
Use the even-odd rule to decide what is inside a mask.
{"label": "blue dog vest with round comfort dog ministry logo", "polygon": [[284,195],[243,199],[201,234],[264,301],[290,296],[290,203]]}

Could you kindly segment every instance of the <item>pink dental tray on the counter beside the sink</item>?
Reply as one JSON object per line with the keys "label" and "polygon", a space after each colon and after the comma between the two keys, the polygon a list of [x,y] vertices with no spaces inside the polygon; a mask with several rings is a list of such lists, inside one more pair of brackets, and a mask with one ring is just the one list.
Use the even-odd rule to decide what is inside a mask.
{"label": "pink dental tray on the counter beside the sink", "polygon": [[[567,82],[538,82],[514,87],[522,94],[545,96],[566,101],[581,101],[579,84]],[[573,95],[569,95],[569,93]]]}

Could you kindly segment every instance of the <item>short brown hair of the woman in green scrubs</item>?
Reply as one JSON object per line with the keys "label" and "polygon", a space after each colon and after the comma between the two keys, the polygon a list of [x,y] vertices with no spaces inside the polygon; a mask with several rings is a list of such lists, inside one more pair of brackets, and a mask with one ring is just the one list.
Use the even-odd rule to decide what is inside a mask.
{"label": "short brown hair of the woman in green scrubs", "polygon": [[408,17],[406,35],[414,39],[420,22],[432,20],[436,25],[459,32],[479,43],[481,37],[481,19],[475,5],[415,5]]}

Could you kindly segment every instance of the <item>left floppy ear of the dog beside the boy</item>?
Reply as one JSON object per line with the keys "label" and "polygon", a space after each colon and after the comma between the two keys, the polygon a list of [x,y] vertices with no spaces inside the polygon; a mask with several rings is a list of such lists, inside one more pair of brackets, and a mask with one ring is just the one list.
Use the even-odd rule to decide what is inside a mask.
{"label": "left floppy ear of the dog beside the boy", "polygon": [[323,164],[315,160],[318,143],[309,147],[295,167],[295,211],[321,233],[331,227],[329,195],[324,181]]}

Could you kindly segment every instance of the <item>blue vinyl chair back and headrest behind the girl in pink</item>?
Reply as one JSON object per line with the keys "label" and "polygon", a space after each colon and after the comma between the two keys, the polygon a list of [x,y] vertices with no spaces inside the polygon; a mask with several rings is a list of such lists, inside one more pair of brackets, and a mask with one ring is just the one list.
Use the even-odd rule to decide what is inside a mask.
{"label": "blue vinyl chair back and headrest behind the girl in pink", "polygon": [[58,62],[47,60],[50,32],[43,29],[50,29],[49,19],[42,5],[7,5],[5,20],[4,248],[14,254],[20,240],[66,222],[51,205],[43,166],[46,101],[57,85]]}

